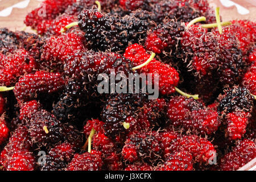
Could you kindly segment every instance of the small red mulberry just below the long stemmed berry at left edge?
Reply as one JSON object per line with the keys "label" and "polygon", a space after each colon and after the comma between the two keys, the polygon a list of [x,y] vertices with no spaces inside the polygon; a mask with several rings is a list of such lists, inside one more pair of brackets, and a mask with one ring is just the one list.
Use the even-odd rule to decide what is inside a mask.
{"label": "small red mulberry just below the long stemmed berry at left edge", "polygon": [[23,120],[26,118],[29,119],[31,114],[35,113],[39,109],[42,109],[42,105],[38,101],[32,100],[32,101],[25,102],[22,106],[20,106],[19,119],[20,120]]}

